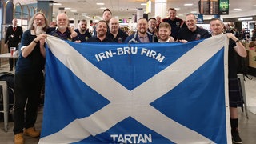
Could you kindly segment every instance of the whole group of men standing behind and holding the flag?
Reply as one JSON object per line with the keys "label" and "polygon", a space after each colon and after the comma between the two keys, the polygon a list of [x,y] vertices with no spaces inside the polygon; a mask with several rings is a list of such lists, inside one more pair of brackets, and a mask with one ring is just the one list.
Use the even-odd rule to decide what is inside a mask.
{"label": "whole group of men standing behind and holding the flag", "polygon": [[[18,33],[12,26],[10,34],[8,34],[8,46],[14,46],[12,38],[15,39],[15,46],[21,42],[20,56],[15,71],[15,110],[14,110],[14,143],[24,143],[23,134],[31,137],[38,137],[40,133],[34,129],[38,102],[42,86],[42,70],[44,66],[45,38],[46,34],[54,35],[58,38],[74,41],[74,42],[191,42],[194,40],[209,38],[218,34],[222,34],[223,23],[218,18],[210,20],[209,34],[196,26],[196,18],[194,14],[187,14],[185,22],[176,17],[176,10],[170,8],[168,10],[169,18],[162,19],[150,18],[149,22],[146,18],[139,18],[137,22],[137,31],[135,34],[128,36],[120,29],[118,19],[112,18],[109,9],[103,11],[103,20],[96,25],[93,36],[87,31],[86,20],[80,20],[77,30],[72,30],[68,26],[68,17],[66,14],[58,14],[57,27],[48,28],[47,19],[44,14],[37,13],[30,20],[30,24],[26,32],[22,35],[22,30]],[[16,22],[17,23],[17,22]],[[17,24],[16,24],[17,25]],[[48,29],[47,29],[48,28]],[[8,29],[9,30],[9,29]],[[22,35],[22,40],[21,40]],[[239,42],[234,34],[227,34],[230,38],[229,48],[229,90],[230,90],[230,122],[231,134],[234,143],[242,143],[238,133],[238,112],[237,107],[242,105],[238,102],[241,96],[238,80],[236,76],[235,54],[246,57],[246,49]],[[7,39],[7,38],[6,38]],[[12,67],[10,67],[12,69]],[[29,99],[26,103],[26,99]],[[26,110],[24,111],[26,107]],[[26,114],[26,117],[24,116]],[[23,128],[25,128],[23,130]]]}

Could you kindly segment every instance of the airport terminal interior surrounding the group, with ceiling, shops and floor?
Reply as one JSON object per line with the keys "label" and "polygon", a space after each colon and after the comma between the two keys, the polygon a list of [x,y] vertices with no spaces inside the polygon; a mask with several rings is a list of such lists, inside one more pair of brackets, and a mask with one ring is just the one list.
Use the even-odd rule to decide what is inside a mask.
{"label": "airport terminal interior surrounding the group, with ceiling, shops and floor", "polygon": [[[225,3],[226,2],[226,3]],[[224,4],[223,4],[224,3]],[[226,6],[226,9],[222,9]],[[70,27],[78,28],[80,19],[87,20],[87,29],[90,33],[94,25],[102,20],[102,11],[110,9],[113,17],[117,18],[122,30],[136,31],[136,19],[167,18],[167,10],[173,7],[177,10],[177,17],[185,20],[186,14],[194,14],[198,17],[198,26],[210,32],[210,18],[220,18],[226,26],[226,30],[236,29],[241,33],[238,37],[247,50],[244,59],[242,74],[244,81],[244,105],[238,108],[238,129],[243,144],[256,143],[256,1],[246,0],[1,0],[1,47],[0,53],[6,54],[4,41],[6,29],[11,26],[13,18],[18,19],[18,25],[25,31],[28,28],[29,19],[36,11],[46,13],[49,22],[56,21],[58,13],[66,13],[69,17]],[[218,9],[216,9],[218,7]],[[221,13],[221,12],[222,13]],[[8,14],[11,13],[11,14]],[[221,13],[221,14],[220,14]],[[243,33],[243,34],[242,34]],[[250,42],[255,46],[250,47]],[[0,54],[0,58],[1,58]],[[9,58],[0,59],[0,73],[10,71]],[[1,99],[0,99],[1,102]],[[2,105],[1,105],[2,106]],[[2,110],[2,109],[1,109]],[[35,124],[37,130],[41,130],[43,115],[43,102],[39,107],[38,118]],[[2,116],[2,115],[0,115]],[[14,143],[14,122],[8,122],[8,130],[5,130],[3,119],[0,118],[0,144]],[[39,138],[25,136],[26,144],[36,144]]]}

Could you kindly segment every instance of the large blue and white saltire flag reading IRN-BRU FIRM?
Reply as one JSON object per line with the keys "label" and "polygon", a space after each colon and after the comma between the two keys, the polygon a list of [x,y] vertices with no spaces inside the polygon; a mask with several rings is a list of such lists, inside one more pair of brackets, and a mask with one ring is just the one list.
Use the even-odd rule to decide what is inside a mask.
{"label": "large blue and white saltire flag reading IRN-BRU FIRM", "polygon": [[47,45],[39,143],[231,143],[226,35]]}

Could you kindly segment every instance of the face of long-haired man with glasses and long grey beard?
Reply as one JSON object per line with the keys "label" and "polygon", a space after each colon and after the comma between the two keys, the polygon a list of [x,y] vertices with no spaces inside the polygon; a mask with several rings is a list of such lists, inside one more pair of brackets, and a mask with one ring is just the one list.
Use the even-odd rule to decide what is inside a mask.
{"label": "face of long-haired man with glasses and long grey beard", "polygon": [[46,26],[46,23],[45,23],[45,18],[43,17],[42,14],[38,14],[34,17],[34,23],[33,23],[33,26],[34,26],[34,30],[35,30],[35,34],[42,34],[42,29]]}

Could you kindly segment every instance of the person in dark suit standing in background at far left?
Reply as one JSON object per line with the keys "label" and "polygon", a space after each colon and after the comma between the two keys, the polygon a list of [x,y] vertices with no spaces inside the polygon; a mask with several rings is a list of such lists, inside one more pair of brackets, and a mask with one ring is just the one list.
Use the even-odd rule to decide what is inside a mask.
{"label": "person in dark suit standing in background at far left", "polygon": [[[10,53],[10,47],[16,47],[18,50],[18,45],[21,42],[23,30],[21,26],[18,26],[18,21],[16,18],[13,19],[13,26],[9,26],[6,30],[6,39],[5,39],[5,47],[8,49]],[[9,59],[10,71],[13,71],[14,64],[16,64],[17,60],[13,58]]]}

